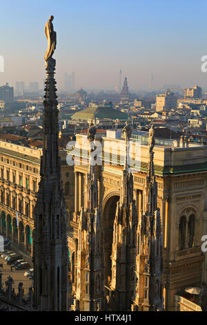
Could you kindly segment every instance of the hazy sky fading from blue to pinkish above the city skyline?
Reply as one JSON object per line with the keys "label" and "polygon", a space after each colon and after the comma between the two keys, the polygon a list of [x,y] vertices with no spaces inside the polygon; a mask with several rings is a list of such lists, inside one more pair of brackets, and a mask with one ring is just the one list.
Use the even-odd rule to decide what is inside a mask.
{"label": "hazy sky fading from blue to pinkish above the city skyline", "polygon": [[199,84],[207,89],[201,56],[207,55],[206,0],[9,0],[0,6],[0,84],[45,77],[44,26],[54,15],[57,86],[76,73],[76,88],[148,89],[160,84]]}

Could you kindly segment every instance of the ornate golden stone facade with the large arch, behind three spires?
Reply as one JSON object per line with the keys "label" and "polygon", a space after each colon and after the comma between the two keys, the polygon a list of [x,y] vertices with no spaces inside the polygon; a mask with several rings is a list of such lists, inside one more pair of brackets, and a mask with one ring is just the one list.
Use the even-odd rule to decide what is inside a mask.
{"label": "ornate golden stone facade with the large arch, behind three spires", "polygon": [[[84,135],[77,135],[77,143],[81,150],[81,164],[75,165],[75,214],[71,225],[74,229],[70,239],[70,254],[73,257],[72,286],[75,293],[77,287],[77,245],[78,224],[81,206],[85,207],[83,193],[86,190],[87,150]],[[121,185],[125,152],[124,139],[96,136],[101,142],[101,166],[97,171],[97,199],[102,210],[103,219],[103,254],[105,296],[108,295],[112,279],[111,256],[113,226],[116,207],[121,197]],[[110,145],[107,145],[107,142]],[[132,142],[132,156],[135,155]],[[119,148],[120,147],[120,148]],[[118,148],[117,163],[114,163],[113,150]],[[201,236],[206,226],[206,172],[207,148],[205,146],[188,145],[188,147],[169,147],[155,145],[154,148],[155,180],[157,182],[157,208],[159,208],[162,226],[162,245],[164,274],[163,297],[164,308],[174,310],[174,296],[186,286],[198,286],[206,277],[204,254],[201,252]],[[75,151],[76,152],[76,151]],[[100,158],[99,154],[99,158]],[[148,171],[148,146],[140,144],[139,167],[132,169],[133,198],[137,208],[138,221],[144,211],[146,174]],[[80,162],[80,159],[79,159]]]}

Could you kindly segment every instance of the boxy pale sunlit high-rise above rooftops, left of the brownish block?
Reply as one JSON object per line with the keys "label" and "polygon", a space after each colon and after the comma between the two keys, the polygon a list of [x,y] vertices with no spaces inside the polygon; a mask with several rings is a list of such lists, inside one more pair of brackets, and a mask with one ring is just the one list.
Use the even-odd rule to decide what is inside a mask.
{"label": "boxy pale sunlit high-rise above rooftops, left of the brownish block", "polygon": [[177,97],[169,89],[166,93],[156,95],[156,111],[170,111],[177,108]]}

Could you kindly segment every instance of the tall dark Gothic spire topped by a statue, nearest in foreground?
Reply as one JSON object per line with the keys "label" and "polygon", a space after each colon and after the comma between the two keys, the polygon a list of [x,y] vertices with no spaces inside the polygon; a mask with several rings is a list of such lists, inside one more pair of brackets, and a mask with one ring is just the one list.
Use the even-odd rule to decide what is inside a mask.
{"label": "tall dark Gothic spire topped by a statue, nearest in foreground", "polygon": [[[52,21],[51,44],[56,39]],[[47,34],[48,35],[48,34]],[[54,41],[55,43],[55,41]],[[52,47],[55,45],[52,43]],[[46,94],[43,102],[43,156],[41,180],[35,206],[34,229],[34,307],[42,311],[68,310],[68,245],[66,206],[61,182],[59,126],[56,95],[55,59],[46,60]]]}

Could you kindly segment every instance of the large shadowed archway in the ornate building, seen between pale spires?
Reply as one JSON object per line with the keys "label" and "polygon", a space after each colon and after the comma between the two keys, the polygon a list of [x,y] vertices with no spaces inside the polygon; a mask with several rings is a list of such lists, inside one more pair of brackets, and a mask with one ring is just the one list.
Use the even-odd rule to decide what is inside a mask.
{"label": "large shadowed archway in the ornate building, seen between pale spires", "polygon": [[112,254],[112,239],[113,225],[115,220],[117,201],[119,195],[113,195],[108,198],[103,206],[103,228],[104,228],[104,280],[105,284],[110,284],[111,280],[111,254]]}

